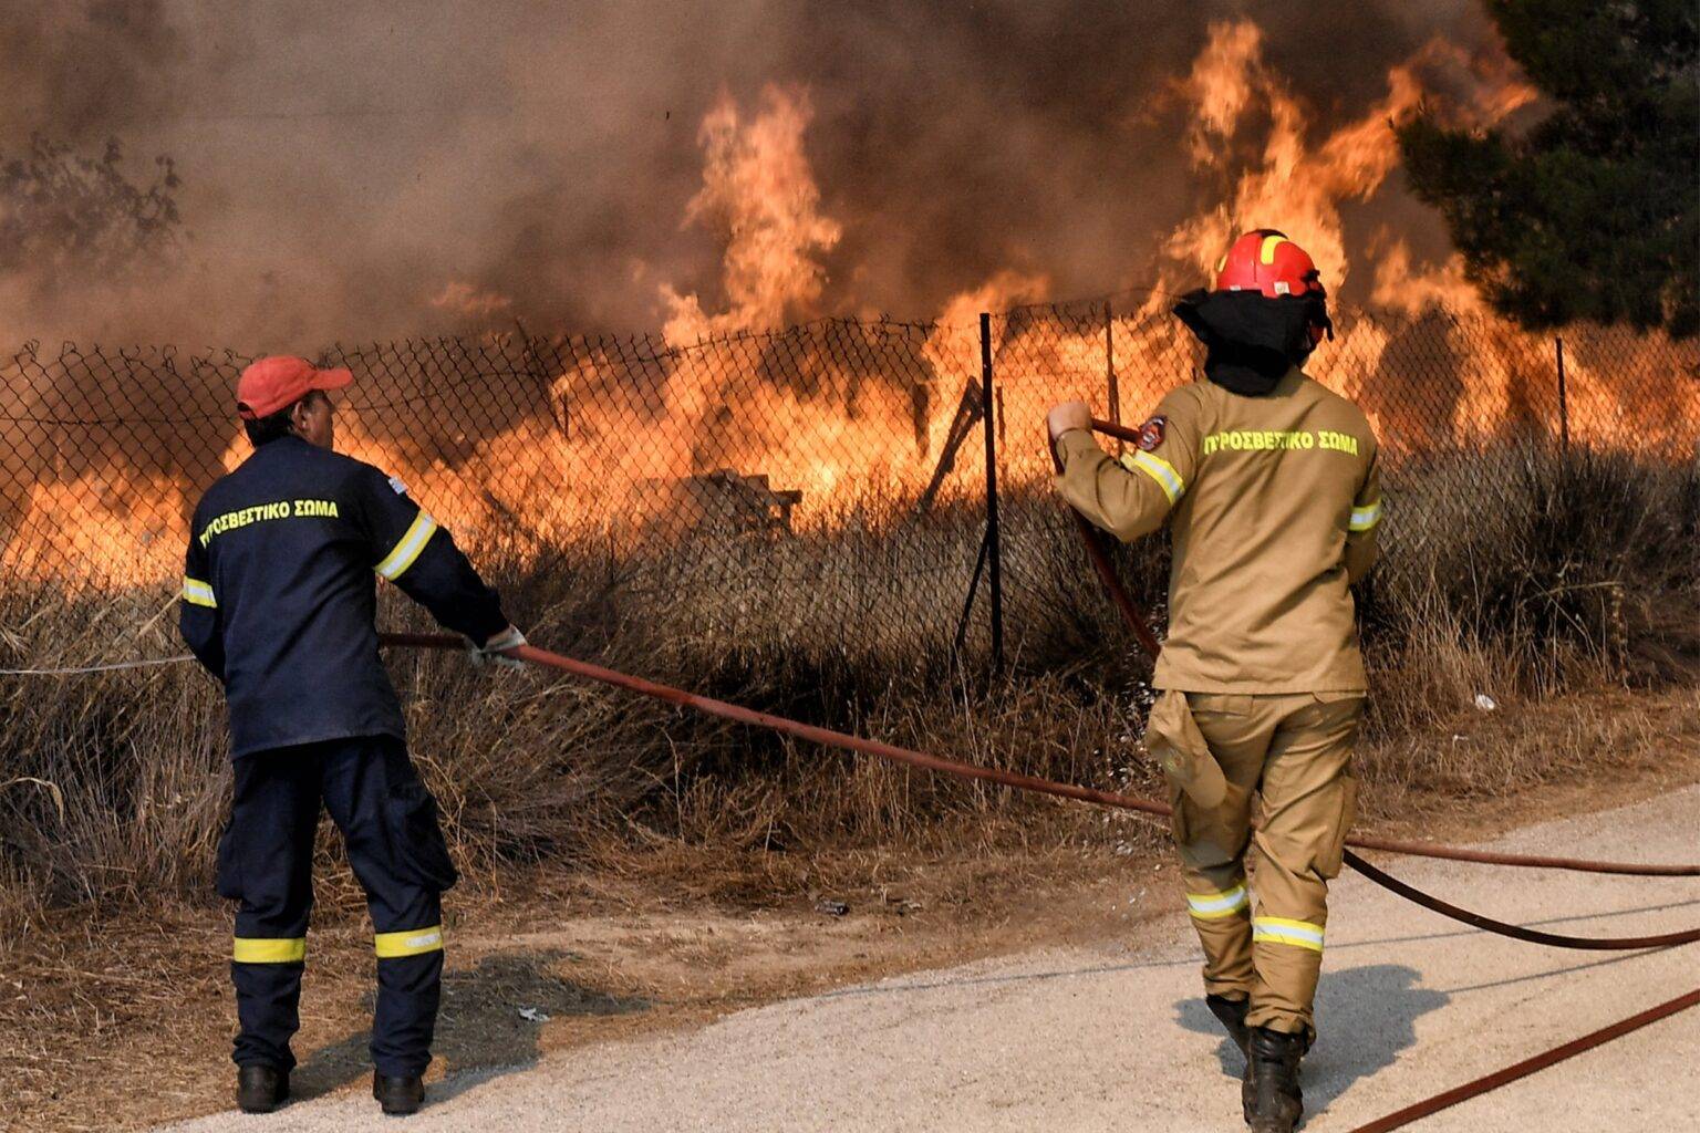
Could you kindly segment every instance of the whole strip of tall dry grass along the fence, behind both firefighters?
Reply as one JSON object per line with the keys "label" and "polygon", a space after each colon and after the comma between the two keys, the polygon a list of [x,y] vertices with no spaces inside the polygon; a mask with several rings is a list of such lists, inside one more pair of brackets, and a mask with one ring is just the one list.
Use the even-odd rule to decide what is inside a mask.
{"label": "whole strip of tall dry grass along the fence, behind both firefighters", "polygon": [[[1391,554],[1363,596],[1372,785],[1491,792],[1564,769],[1530,759],[1515,737],[1467,754],[1426,746],[1476,693],[1538,703],[1693,679],[1695,469],[1523,457],[1486,511],[1465,491],[1469,462],[1399,484]],[[641,561],[598,544],[539,554],[515,542],[481,557],[517,620],[564,652],[978,763],[1149,790],[1137,751],[1144,662],[1056,501],[1017,491],[1005,513],[1017,673],[993,688],[950,657],[960,564],[979,537],[969,506],[916,520],[862,501],[831,535],[697,538]],[[1158,606],[1161,544],[1120,554]],[[425,625],[393,595],[382,620]],[[0,593],[0,625],[7,662],[180,649],[170,596],[156,589],[14,586]],[[983,656],[981,629],[967,649]],[[799,749],[600,686],[479,673],[444,654],[391,662],[474,888],[500,888],[505,871],[537,861],[666,868],[683,856],[702,868],[719,856],[767,863],[755,875],[728,866],[740,877],[722,887],[758,900],[763,887],[806,888],[796,863],[823,849],[994,854],[1124,837],[1102,815]],[[192,666],[0,678],[0,958],[53,909],[102,916],[162,893],[207,899],[230,778],[212,681]],[[1590,756],[1564,754],[1578,758]]]}

